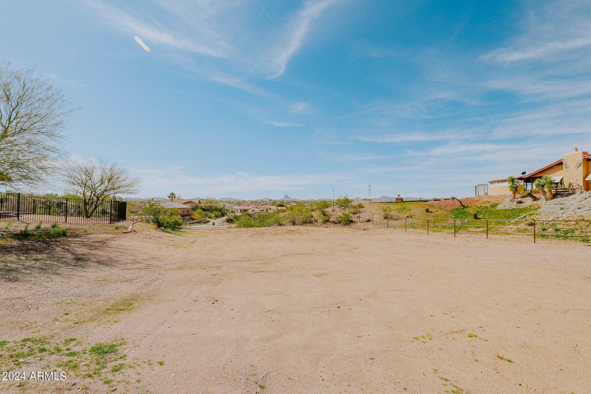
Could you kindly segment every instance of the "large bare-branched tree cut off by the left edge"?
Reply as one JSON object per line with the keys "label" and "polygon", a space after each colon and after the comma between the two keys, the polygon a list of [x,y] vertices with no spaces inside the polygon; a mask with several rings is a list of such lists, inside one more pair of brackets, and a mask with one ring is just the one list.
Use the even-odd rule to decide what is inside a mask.
{"label": "large bare-branched tree cut off by the left edge", "polygon": [[15,190],[44,183],[63,157],[63,134],[74,108],[34,69],[0,64],[0,186]]}

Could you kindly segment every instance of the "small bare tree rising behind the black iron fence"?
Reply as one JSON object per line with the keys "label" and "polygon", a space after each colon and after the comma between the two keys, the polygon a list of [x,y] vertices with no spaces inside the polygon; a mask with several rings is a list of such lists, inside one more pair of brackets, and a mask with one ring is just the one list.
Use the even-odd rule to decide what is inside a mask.
{"label": "small bare tree rising behind the black iron fence", "polygon": [[84,199],[84,213],[91,217],[100,201],[115,194],[136,194],[141,179],[129,173],[129,168],[104,158],[93,161],[67,161],[61,168],[61,178],[67,190]]}

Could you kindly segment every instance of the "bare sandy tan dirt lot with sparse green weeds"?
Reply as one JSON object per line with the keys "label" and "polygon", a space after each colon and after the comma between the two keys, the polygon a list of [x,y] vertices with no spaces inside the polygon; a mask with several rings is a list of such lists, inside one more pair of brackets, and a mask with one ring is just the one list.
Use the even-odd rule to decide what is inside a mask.
{"label": "bare sandy tan dirt lot with sparse green weeds", "polygon": [[[0,353],[67,379],[0,391],[588,393],[590,253],[323,227],[64,240],[54,271],[0,282]],[[27,337],[60,350],[8,360]],[[118,350],[100,359],[99,342]]]}

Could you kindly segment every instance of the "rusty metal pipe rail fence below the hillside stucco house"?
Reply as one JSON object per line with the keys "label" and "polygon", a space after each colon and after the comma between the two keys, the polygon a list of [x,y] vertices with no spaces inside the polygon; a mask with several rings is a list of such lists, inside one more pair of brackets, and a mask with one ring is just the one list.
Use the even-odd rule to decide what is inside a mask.
{"label": "rusty metal pipe rail fence below the hillside stucco house", "polygon": [[427,235],[429,235],[433,231],[453,231],[454,237],[456,237],[457,233],[480,233],[486,235],[486,239],[488,239],[489,234],[522,235],[531,236],[534,243],[540,237],[542,239],[579,238],[583,241],[591,240],[591,220],[418,219],[395,217],[394,219],[382,219],[385,220],[385,222],[382,222],[379,218],[375,220],[374,213],[371,213],[371,217],[363,216],[360,209],[336,201],[332,202],[342,212],[348,211],[352,216],[356,216],[359,222],[363,219],[386,229],[404,229],[404,232],[409,232],[410,229],[410,232],[413,233],[420,233],[417,230],[426,230]]}

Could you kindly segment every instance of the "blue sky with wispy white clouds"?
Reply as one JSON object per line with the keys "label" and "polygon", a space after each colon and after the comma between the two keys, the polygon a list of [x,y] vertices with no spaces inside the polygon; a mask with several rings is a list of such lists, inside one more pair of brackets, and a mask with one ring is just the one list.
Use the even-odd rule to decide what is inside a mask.
{"label": "blue sky with wispy white clouds", "polygon": [[588,1],[20,1],[0,34],[145,197],[465,197],[591,151]]}

